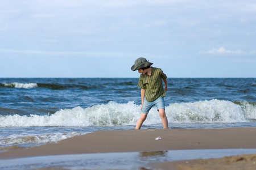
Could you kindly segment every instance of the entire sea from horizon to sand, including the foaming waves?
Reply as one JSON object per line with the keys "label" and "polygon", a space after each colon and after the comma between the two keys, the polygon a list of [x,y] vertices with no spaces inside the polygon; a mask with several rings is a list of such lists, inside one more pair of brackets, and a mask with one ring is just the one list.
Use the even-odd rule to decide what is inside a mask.
{"label": "entire sea from horizon to sand, including the foaming waves", "polygon": [[[256,127],[256,78],[168,78],[170,128]],[[0,152],[134,129],[138,78],[1,78]],[[142,129],[162,128],[156,108]]]}

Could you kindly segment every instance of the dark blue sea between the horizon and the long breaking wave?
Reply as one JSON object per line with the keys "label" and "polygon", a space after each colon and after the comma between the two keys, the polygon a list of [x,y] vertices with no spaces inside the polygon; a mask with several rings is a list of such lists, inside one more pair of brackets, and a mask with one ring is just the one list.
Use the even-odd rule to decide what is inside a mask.
{"label": "dark blue sea between the horizon and the long breaking wave", "polygon": [[[135,78],[0,79],[0,114],[16,113],[15,109],[24,114],[55,113],[59,109],[79,105],[87,108],[109,101],[141,104],[137,83]],[[168,79],[169,92],[165,102],[166,105],[212,99],[255,102],[255,89],[256,79],[253,78]]]}

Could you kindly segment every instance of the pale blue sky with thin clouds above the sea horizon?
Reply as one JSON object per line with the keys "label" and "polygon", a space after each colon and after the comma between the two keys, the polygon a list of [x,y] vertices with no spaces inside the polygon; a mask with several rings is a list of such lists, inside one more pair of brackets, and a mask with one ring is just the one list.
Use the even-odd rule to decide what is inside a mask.
{"label": "pale blue sky with thin clouds above the sea horizon", "polygon": [[1,0],[0,78],[256,78],[256,1]]}

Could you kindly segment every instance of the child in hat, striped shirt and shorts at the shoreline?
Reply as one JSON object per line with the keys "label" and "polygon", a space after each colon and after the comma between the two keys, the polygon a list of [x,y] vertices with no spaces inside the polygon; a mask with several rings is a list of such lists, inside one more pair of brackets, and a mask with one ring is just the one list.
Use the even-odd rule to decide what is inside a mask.
{"label": "child in hat, striped shirt and shorts at the shoreline", "polygon": [[[147,113],[155,106],[158,109],[159,116],[162,119],[164,129],[168,129],[168,120],[166,117],[164,99],[167,89],[167,76],[162,69],[150,67],[153,63],[148,62],[146,58],[135,60],[131,70],[138,70],[141,73],[138,86],[141,87],[141,117],[136,124],[135,129],[141,129],[143,122],[147,118]],[[163,88],[163,82],[164,88]],[[146,98],[145,98],[146,96]],[[145,98],[145,99],[144,99]]]}

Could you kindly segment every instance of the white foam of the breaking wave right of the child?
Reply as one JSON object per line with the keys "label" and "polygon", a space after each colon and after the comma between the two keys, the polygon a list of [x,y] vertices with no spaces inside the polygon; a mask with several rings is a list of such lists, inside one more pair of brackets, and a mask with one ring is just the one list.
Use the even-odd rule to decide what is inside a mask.
{"label": "white foam of the breaking wave right of the child", "polygon": [[216,99],[195,103],[174,103],[167,107],[166,112],[172,115],[170,121],[175,123],[246,122],[249,118],[247,115],[251,115],[251,111],[243,110],[240,105]]}

